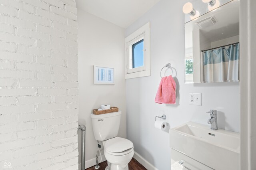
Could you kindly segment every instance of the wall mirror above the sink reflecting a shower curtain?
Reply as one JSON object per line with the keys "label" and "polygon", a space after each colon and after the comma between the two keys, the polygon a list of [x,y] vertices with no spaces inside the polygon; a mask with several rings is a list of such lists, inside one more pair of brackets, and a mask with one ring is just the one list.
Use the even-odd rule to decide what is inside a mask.
{"label": "wall mirror above the sink reflecting a shower curtain", "polygon": [[239,5],[232,0],[185,23],[185,83],[239,81]]}

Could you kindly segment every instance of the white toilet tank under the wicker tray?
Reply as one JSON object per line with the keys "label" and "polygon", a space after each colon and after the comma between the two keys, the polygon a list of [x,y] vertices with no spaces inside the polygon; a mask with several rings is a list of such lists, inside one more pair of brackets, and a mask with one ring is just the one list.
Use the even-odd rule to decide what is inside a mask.
{"label": "white toilet tank under the wicker tray", "polygon": [[121,111],[118,111],[102,115],[91,114],[92,128],[96,140],[104,141],[117,136],[121,113]]}

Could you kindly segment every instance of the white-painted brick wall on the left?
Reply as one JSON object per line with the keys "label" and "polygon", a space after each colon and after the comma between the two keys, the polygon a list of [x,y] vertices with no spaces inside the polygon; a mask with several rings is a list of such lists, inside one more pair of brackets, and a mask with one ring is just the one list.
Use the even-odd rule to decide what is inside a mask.
{"label": "white-painted brick wall on the left", "polygon": [[0,169],[78,169],[75,0],[0,0]]}

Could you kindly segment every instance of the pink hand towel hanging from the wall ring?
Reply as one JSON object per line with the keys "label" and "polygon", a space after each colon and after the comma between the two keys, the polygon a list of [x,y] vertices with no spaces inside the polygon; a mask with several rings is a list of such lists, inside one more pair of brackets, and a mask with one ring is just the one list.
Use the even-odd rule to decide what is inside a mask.
{"label": "pink hand towel hanging from the wall ring", "polygon": [[155,102],[159,104],[176,104],[176,83],[171,75],[161,79]]}

